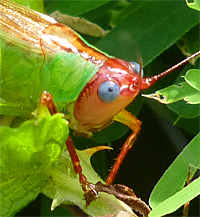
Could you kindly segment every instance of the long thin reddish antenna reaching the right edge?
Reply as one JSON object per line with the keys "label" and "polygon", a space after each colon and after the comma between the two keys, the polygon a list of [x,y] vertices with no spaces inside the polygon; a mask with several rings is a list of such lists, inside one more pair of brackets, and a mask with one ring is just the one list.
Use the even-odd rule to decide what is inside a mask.
{"label": "long thin reddish antenna reaching the right edge", "polygon": [[164,76],[170,74],[174,70],[178,69],[180,66],[188,63],[191,59],[194,59],[195,57],[200,55],[200,50],[196,53],[192,54],[191,56],[187,57],[186,59],[182,60],[181,62],[177,63],[176,65],[170,67],[169,69],[165,70],[164,72],[161,72],[158,75],[154,75],[149,78],[142,78],[141,79],[141,90],[148,89],[151,87],[156,81],[158,81],[160,78],[163,78]]}

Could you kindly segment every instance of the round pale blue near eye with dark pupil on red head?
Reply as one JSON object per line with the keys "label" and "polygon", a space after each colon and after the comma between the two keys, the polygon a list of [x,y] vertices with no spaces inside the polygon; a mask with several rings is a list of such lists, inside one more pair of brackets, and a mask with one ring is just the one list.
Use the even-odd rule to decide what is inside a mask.
{"label": "round pale blue near eye with dark pupil on red head", "polygon": [[120,94],[120,87],[113,81],[105,81],[98,88],[99,98],[103,102],[113,102]]}

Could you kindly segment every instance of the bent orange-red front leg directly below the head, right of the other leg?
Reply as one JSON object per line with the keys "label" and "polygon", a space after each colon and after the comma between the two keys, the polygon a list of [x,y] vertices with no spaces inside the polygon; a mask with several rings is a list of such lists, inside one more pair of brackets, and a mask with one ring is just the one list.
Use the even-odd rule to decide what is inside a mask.
{"label": "bent orange-red front leg directly below the head, right of the other leg", "polygon": [[118,113],[115,117],[114,117],[115,121],[118,121],[120,123],[123,123],[125,125],[127,125],[128,127],[131,128],[131,130],[133,131],[131,133],[131,135],[127,138],[127,140],[125,141],[120,154],[118,155],[114,166],[112,167],[107,179],[106,179],[106,184],[111,185],[115,179],[115,176],[117,175],[117,172],[119,170],[120,165],[122,164],[125,156],[127,155],[128,151],[132,148],[132,146],[134,145],[138,134],[140,132],[141,129],[141,122],[134,117],[131,113],[129,113],[126,110],[122,110],[120,113]]}

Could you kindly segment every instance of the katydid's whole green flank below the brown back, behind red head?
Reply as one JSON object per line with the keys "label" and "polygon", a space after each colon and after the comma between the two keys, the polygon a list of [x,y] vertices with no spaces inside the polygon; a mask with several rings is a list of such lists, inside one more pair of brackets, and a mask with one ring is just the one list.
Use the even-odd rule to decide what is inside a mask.
{"label": "katydid's whole green flank below the brown back, behind red head", "polygon": [[76,100],[99,66],[77,54],[63,52],[45,57],[17,44],[2,41],[1,114],[32,112],[46,90],[55,102]]}

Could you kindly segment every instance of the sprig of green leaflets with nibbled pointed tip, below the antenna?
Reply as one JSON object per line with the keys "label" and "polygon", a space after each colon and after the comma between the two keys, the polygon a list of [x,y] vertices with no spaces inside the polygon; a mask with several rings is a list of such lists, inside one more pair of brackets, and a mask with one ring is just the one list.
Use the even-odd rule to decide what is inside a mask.
{"label": "sprig of green leaflets with nibbled pointed tip, below the antenna", "polygon": [[185,82],[174,84],[143,95],[167,105],[179,117],[195,118],[200,115],[200,70],[191,69],[184,76]]}

